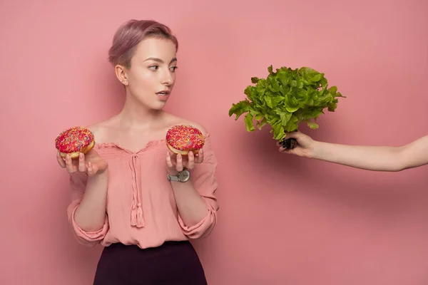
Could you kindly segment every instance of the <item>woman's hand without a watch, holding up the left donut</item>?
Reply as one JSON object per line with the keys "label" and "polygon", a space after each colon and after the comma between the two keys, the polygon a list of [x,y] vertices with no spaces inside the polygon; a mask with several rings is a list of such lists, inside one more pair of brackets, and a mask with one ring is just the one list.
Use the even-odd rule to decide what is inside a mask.
{"label": "woman's hand without a watch, holding up the left donut", "polygon": [[59,153],[56,154],[56,160],[62,168],[66,168],[68,173],[85,172],[88,176],[101,174],[108,168],[106,160],[103,160],[98,152],[90,150],[86,155],[81,153],[78,159],[72,160],[70,155],[66,158],[61,157]]}

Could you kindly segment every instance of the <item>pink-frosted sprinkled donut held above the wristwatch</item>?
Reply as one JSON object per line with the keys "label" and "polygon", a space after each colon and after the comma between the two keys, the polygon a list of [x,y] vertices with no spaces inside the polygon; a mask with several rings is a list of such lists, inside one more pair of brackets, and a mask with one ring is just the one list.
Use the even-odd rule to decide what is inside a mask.
{"label": "pink-frosted sprinkled donut held above the wristwatch", "polygon": [[166,145],[176,155],[196,155],[204,144],[202,132],[191,125],[174,125],[166,133]]}

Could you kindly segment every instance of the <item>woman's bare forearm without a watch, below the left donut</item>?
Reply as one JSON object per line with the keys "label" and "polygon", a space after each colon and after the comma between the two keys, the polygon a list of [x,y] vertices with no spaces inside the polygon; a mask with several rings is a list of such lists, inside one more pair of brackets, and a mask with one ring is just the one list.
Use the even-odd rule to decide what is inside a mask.
{"label": "woman's bare forearm without a watch, below the left donut", "polygon": [[78,227],[95,232],[103,227],[106,218],[108,170],[88,177],[85,195],[74,213]]}

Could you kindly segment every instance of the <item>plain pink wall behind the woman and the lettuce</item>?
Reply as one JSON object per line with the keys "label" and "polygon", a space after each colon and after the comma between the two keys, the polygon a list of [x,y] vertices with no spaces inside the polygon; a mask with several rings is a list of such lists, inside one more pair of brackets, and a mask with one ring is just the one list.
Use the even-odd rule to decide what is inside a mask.
{"label": "plain pink wall behind the woman and the lettuce", "polygon": [[280,155],[268,128],[247,133],[228,117],[270,64],[310,66],[348,96],[307,131],[314,138],[426,135],[424,0],[1,1],[0,284],[91,284],[101,247],[71,236],[54,138],[120,110],[107,50],[131,18],[173,28],[168,110],[213,133],[219,222],[195,242],[210,285],[428,284],[427,167],[367,172]]}

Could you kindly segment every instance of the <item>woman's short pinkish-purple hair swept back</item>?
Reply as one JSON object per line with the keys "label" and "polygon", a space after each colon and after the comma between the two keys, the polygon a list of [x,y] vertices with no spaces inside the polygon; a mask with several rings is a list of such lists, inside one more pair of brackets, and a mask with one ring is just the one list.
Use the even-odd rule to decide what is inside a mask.
{"label": "woman's short pinkish-purple hair swept back", "polygon": [[165,38],[173,41],[178,50],[178,40],[171,29],[153,20],[130,20],[118,28],[113,36],[113,43],[108,50],[108,61],[116,66],[121,64],[131,68],[131,58],[136,46],[145,38]]}

